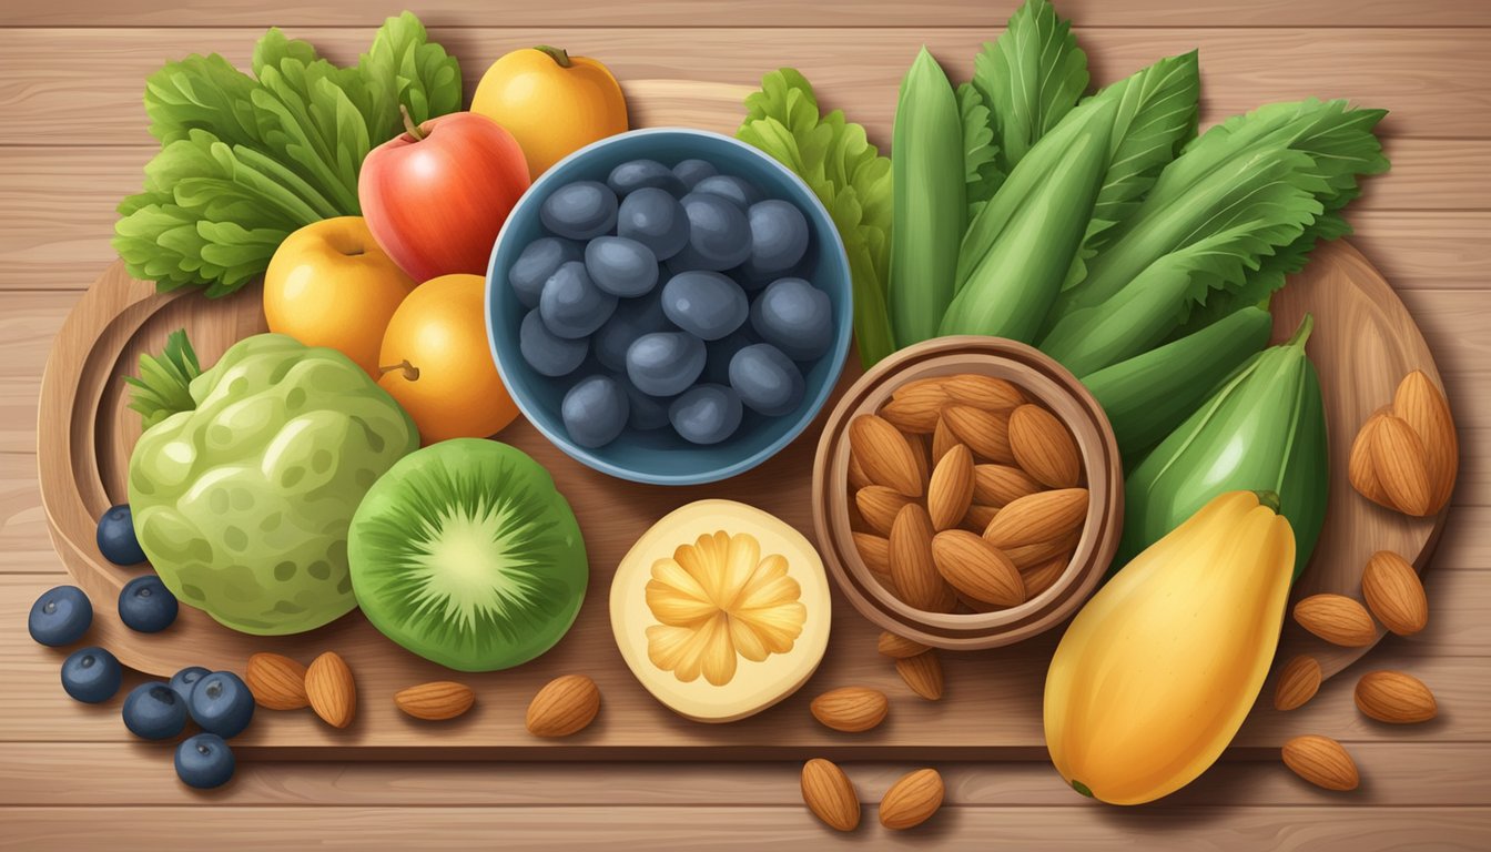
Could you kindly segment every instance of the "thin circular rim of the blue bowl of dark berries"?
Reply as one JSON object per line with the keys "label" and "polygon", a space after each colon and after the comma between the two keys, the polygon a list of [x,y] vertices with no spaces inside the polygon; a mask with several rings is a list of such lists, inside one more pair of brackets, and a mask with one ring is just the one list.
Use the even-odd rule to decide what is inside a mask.
{"label": "thin circular rim of the blue bowl of dark berries", "polygon": [[[720,467],[692,472],[692,473],[649,473],[625,467],[614,461],[610,461],[608,458],[598,455],[590,448],[584,448],[574,443],[573,440],[570,440],[568,434],[564,434],[562,430],[549,428],[541,422],[540,418],[535,418],[532,413],[532,410],[537,410],[537,403],[534,403],[532,400],[526,398],[522,394],[511,392],[511,388],[514,386],[511,379],[516,373],[502,366],[502,358],[498,355],[498,346],[497,346],[497,328],[495,328],[497,312],[494,304],[495,270],[497,270],[498,254],[502,249],[502,240],[504,237],[508,236],[508,228],[516,230],[516,225],[513,222],[517,219],[516,213],[519,212],[519,209],[522,209],[525,204],[532,204],[534,198],[537,198],[543,192],[547,192],[547,188],[550,185],[561,182],[562,172],[574,161],[583,160],[586,157],[596,154],[598,151],[610,148],[616,145],[619,140],[623,139],[629,140],[641,136],[690,136],[690,137],[710,139],[716,143],[725,143],[728,146],[738,148],[747,154],[747,158],[754,160],[768,170],[774,170],[781,176],[784,176],[787,182],[796,188],[801,197],[807,198],[808,209],[805,210],[805,213],[813,219],[816,219],[814,222],[816,230],[828,234],[826,245],[823,245],[820,251],[826,252],[826,257],[829,258],[828,263],[844,281],[844,319],[835,322],[833,345],[823,355],[823,358],[832,358],[832,361],[829,363],[829,370],[828,375],[825,376],[822,386],[819,388],[817,394],[814,394],[814,397],[811,398],[808,407],[804,409],[804,413],[798,419],[798,422],[787,427],[787,430],[783,434],[772,439],[771,443],[744,458],[738,458]],[[853,273],[850,272],[848,266],[848,252],[844,248],[844,240],[838,233],[838,227],[833,224],[833,216],[829,215],[828,207],[825,207],[823,201],[819,200],[817,192],[814,192],[807,185],[807,182],[802,181],[802,178],[799,178],[795,172],[792,172],[792,169],[787,169],[765,151],[753,148],[732,136],[725,136],[723,133],[716,133],[713,130],[698,130],[692,127],[646,127],[646,128],[628,130],[625,133],[617,133],[614,136],[607,136],[604,139],[598,139],[586,145],[584,148],[573,151],[571,154],[555,163],[552,167],[549,167],[547,172],[540,175],[538,179],[534,181],[513,204],[511,212],[508,212],[507,215],[507,221],[502,222],[502,228],[498,231],[497,239],[492,242],[492,252],[488,257],[485,279],[486,281],[482,295],[482,309],[483,313],[486,315],[483,319],[486,325],[488,352],[491,354],[492,361],[497,364],[497,372],[498,376],[502,379],[502,386],[508,388],[508,392],[513,397],[513,403],[517,406],[517,410],[523,415],[523,419],[526,419],[535,430],[538,430],[538,433],[543,434],[550,443],[559,448],[561,452],[579,461],[580,464],[584,464],[592,470],[598,470],[601,473],[614,476],[617,479],[625,479],[628,482],[640,482],[644,485],[705,485],[710,482],[720,482],[723,479],[729,479],[732,476],[738,476],[741,473],[746,473],[747,470],[759,467],[760,464],[763,464],[765,461],[768,461],[769,458],[786,449],[823,412],[823,407],[828,404],[829,398],[833,394],[833,389],[838,386],[839,378],[842,376],[844,361],[848,358],[850,342],[853,340],[853,327],[854,327]],[[596,449],[604,449],[604,448],[596,448]]]}

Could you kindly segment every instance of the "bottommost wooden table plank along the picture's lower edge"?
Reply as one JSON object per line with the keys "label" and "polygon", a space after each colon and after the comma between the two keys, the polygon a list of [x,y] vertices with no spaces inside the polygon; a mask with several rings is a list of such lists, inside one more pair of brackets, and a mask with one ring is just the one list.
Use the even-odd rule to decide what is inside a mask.
{"label": "bottommost wooden table plank along the picture's lower edge", "polygon": [[[1484,849],[1491,831],[1487,807],[1287,809],[1161,806],[1108,809],[948,807],[910,833],[895,836],[865,809],[853,836],[839,836],[805,807],[231,807],[204,794],[191,807],[13,807],[0,809],[0,843],[13,848],[110,851],[191,851],[213,845],[240,848],[337,846],[417,849],[789,849],[874,839],[878,845],[936,845],[938,849],[1085,851],[1109,848],[1115,837],[1147,851],[1323,849],[1418,851]],[[163,830],[161,827],[176,827]],[[183,827],[192,827],[186,830]],[[210,827],[210,828],[206,828]]]}

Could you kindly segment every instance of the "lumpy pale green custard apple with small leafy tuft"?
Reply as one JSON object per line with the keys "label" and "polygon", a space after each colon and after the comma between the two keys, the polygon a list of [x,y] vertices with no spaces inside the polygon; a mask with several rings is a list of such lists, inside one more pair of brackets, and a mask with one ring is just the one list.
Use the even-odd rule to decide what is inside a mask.
{"label": "lumpy pale green custard apple with small leafy tuft", "polygon": [[130,383],[146,424],[130,455],[134,531],[167,588],[259,636],[350,612],[352,515],[419,446],[398,403],[341,352],[283,334],[200,372],[177,333]]}

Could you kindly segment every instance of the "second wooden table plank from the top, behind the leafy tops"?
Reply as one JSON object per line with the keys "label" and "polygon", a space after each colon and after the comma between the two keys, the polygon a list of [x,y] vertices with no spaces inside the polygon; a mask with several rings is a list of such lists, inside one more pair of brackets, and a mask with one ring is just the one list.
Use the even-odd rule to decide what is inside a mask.
{"label": "second wooden table plank from the top, behind the leafy tops", "polygon": [[[355,61],[371,40],[368,28],[297,27],[291,34],[338,63]],[[889,142],[896,90],[917,45],[926,43],[954,78],[966,79],[990,31],[577,27],[561,34],[573,52],[602,58],[623,85],[702,78],[754,87],[763,72],[795,66],[828,104],[848,107],[872,137]],[[432,36],[464,60],[468,93],[497,57],[558,40],[553,30],[505,25],[435,27]],[[149,73],[191,52],[216,51],[246,66],[255,37],[239,28],[0,30],[6,140],[142,145],[149,137],[140,93]],[[1318,95],[1391,109],[1382,127],[1400,137],[1491,136],[1491,90],[1481,84],[1491,78],[1491,51],[1473,28],[1421,28],[1412,39],[1391,28],[1079,28],[1079,39],[1100,82],[1199,48],[1206,124],[1264,101]]]}

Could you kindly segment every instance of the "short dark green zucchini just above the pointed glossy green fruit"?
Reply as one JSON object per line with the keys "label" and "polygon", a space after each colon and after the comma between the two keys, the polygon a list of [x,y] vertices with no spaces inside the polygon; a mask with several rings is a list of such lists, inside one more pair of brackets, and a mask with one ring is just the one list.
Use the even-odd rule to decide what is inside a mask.
{"label": "short dark green zucchini just above the pointed glossy green fruit", "polygon": [[1202,401],[1269,343],[1273,318],[1243,307],[1200,331],[1082,376],[1108,413],[1126,463],[1170,434]]}

